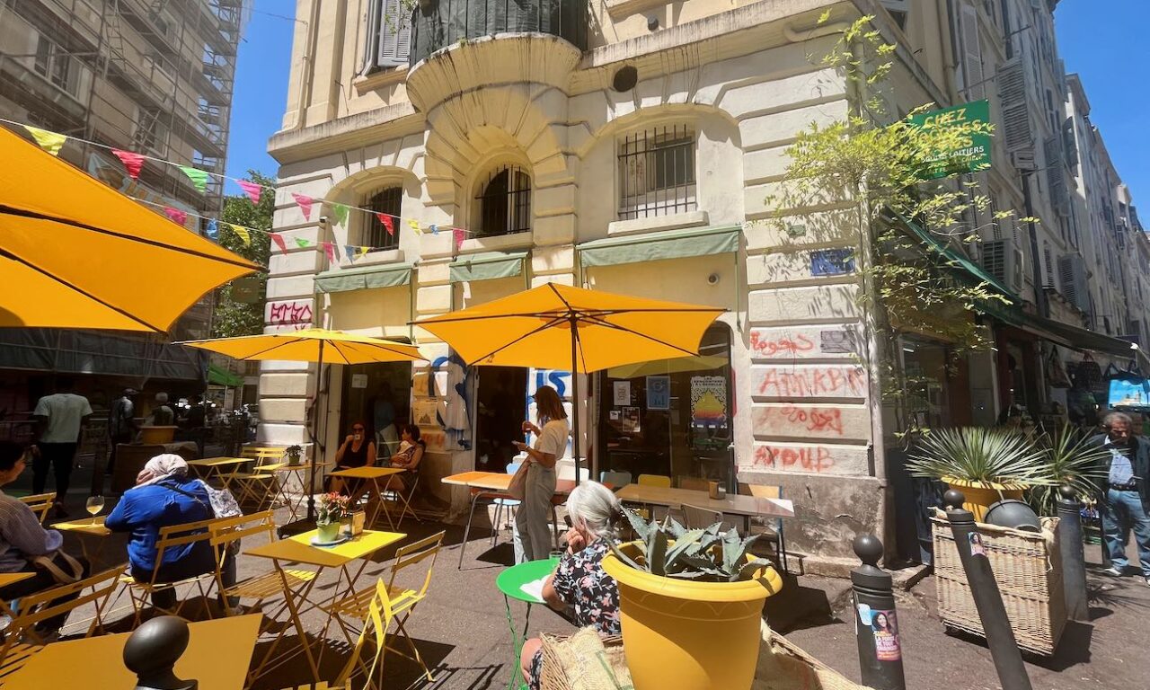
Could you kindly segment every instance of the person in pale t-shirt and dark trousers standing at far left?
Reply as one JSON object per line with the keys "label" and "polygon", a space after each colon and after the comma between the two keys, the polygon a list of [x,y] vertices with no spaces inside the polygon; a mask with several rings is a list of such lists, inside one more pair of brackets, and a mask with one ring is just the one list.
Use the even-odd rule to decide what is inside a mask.
{"label": "person in pale t-shirt and dark trousers standing at far left", "polygon": [[64,494],[76,461],[79,435],[92,416],[87,398],[63,392],[75,386],[71,378],[56,378],[56,391],[36,404],[36,452],[32,453],[32,493],[44,493],[48,482],[48,468],[56,476],[55,514],[66,518]]}

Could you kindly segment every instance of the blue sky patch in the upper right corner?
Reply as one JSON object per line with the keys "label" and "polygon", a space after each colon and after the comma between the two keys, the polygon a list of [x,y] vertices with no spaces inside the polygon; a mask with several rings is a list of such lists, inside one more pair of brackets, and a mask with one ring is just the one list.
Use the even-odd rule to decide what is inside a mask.
{"label": "blue sky patch in the upper right corner", "polygon": [[1147,0],[1063,0],[1055,12],[1058,52],[1078,72],[1118,174],[1150,225],[1150,64],[1143,48],[1150,26]]}

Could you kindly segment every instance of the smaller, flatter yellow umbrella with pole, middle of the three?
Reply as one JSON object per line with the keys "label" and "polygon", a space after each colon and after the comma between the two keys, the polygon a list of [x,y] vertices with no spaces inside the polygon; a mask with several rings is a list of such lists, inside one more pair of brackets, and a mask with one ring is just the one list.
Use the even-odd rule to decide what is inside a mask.
{"label": "smaller, flatter yellow umbrella with pole, middle of the three", "polygon": [[[423,356],[414,345],[358,336],[323,328],[307,328],[298,331],[238,336],[235,338],[210,338],[185,340],[179,345],[199,347],[238,360],[281,360],[290,362],[317,362],[320,382],[323,381],[323,365],[368,365],[375,362],[414,362]],[[316,402],[321,385],[316,383]],[[316,407],[316,409],[320,409]],[[307,497],[307,519],[315,515],[315,467],[317,465],[319,413],[312,415],[312,468]]]}

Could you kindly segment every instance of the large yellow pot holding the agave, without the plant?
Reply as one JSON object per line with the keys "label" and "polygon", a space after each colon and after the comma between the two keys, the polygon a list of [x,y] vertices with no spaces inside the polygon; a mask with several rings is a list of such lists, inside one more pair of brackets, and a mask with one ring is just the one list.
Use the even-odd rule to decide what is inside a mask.
{"label": "large yellow pot holding the agave, without the plant", "polygon": [[[634,544],[622,551],[631,558],[638,552]],[[762,604],[783,584],[774,568],[745,582],[690,582],[636,570],[612,553],[603,568],[619,584],[623,652],[635,690],[751,687]]]}

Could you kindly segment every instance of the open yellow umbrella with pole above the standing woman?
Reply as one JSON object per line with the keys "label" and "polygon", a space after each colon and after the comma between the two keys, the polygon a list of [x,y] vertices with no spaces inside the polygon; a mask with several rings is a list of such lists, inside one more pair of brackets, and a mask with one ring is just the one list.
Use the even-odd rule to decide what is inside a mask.
{"label": "open yellow umbrella with pole above the standing woman", "polygon": [[[468,365],[537,367],[578,374],[622,365],[698,356],[723,309],[547,283],[503,299],[415,322]],[[574,420],[578,481],[578,414]]]}

